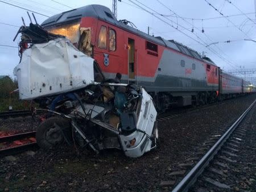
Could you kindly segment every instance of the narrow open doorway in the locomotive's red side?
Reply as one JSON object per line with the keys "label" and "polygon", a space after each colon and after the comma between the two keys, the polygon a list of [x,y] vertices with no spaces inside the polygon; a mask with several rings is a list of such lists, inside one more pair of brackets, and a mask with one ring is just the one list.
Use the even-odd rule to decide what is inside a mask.
{"label": "narrow open doorway in the locomotive's red side", "polygon": [[135,82],[135,44],[128,38],[128,83]]}

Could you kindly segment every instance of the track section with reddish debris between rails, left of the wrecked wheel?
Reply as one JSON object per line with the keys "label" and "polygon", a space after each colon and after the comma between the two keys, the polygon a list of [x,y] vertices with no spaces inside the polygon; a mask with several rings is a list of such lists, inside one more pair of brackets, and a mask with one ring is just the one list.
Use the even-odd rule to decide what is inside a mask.
{"label": "track section with reddish debris between rails, left of the wrecked wheel", "polygon": [[31,131],[0,137],[0,157],[37,149],[35,133]]}

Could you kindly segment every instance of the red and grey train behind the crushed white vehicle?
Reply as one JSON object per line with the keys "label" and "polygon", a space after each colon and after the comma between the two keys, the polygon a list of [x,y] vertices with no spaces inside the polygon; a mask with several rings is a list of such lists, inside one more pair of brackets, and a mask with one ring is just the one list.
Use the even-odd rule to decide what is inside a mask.
{"label": "red and grey train behind the crushed white vehicle", "polygon": [[216,100],[218,93],[246,91],[238,78],[232,77],[230,84],[228,74],[220,76],[221,70],[209,58],[174,40],[147,35],[127,23],[118,21],[105,6],[88,5],[51,16],[42,26],[53,34],[67,36],[93,57],[106,78],[121,73],[122,82],[145,87],[159,109],[171,104],[204,104]]}

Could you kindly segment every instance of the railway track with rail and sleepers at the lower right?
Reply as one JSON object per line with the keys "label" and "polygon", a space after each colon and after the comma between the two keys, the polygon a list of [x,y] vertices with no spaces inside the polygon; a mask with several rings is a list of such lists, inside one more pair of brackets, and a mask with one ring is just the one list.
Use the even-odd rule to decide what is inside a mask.
{"label": "railway track with rail and sleepers at the lower right", "polygon": [[[236,160],[232,160],[231,158],[228,158],[226,156],[231,156],[233,158],[237,156],[234,153],[238,151],[236,147],[238,147],[238,144],[240,144],[242,140],[241,137],[245,135],[245,124],[248,124],[248,120],[246,119],[247,114],[250,112],[251,108],[253,108],[255,103],[256,100],[247,108],[245,112],[243,112],[243,114],[236,120],[236,122],[233,123],[232,126],[230,126],[228,130],[223,133],[223,135],[214,135],[212,137],[213,139],[209,140],[209,142],[203,146],[205,149],[207,148],[207,145],[213,144],[213,146],[204,153],[205,155],[197,161],[197,164],[193,166],[193,168],[182,178],[179,183],[177,183],[173,191],[188,191],[189,189],[191,189],[191,187],[197,181],[197,178],[199,178],[199,176],[201,176],[201,174],[205,172],[206,168],[213,172],[212,175],[220,174],[222,176],[225,176],[225,173],[223,173],[221,170],[211,168],[210,166],[212,164],[217,164],[221,168],[226,166],[225,164],[216,160],[218,158],[227,162],[236,162]],[[215,142],[216,139],[218,140]],[[191,160],[197,160],[197,158],[191,158]],[[180,173],[181,172],[185,171],[182,170],[180,171]],[[180,173],[176,172],[174,173],[174,175]],[[230,187],[228,185],[225,185],[225,183],[217,182],[213,178],[204,178],[204,182],[208,182],[211,183],[211,185],[219,187],[218,190],[230,189]]]}

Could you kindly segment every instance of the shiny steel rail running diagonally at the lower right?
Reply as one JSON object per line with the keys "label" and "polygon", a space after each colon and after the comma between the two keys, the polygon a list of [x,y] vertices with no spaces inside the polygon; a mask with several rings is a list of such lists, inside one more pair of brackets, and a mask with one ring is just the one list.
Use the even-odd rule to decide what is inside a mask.
{"label": "shiny steel rail running diagonally at the lower right", "polygon": [[251,105],[247,108],[245,112],[232,124],[232,126],[220,137],[220,139],[213,145],[212,148],[201,158],[199,162],[191,169],[191,171],[181,180],[172,191],[188,191],[189,187],[196,182],[197,177],[203,172],[204,168],[209,164],[213,159],[214,155],[220,150],[225,141],[229,138],[231,133],[237,128],[241,121],[245,118],[246,114],[254,106],[256,99]]}

